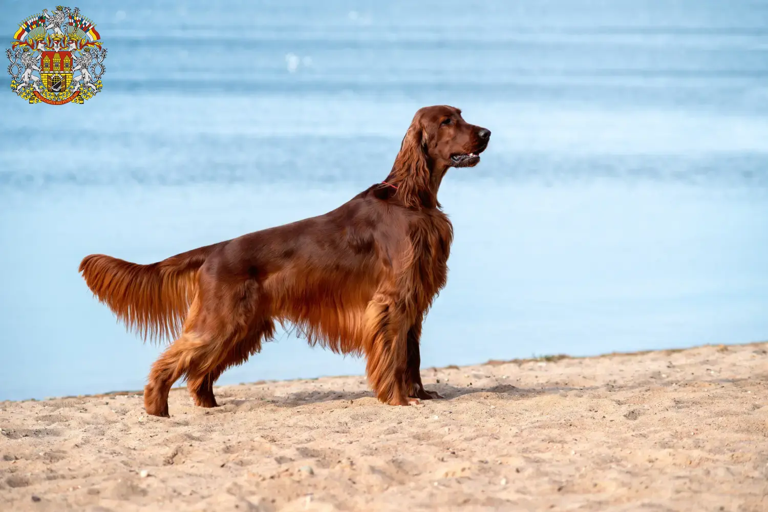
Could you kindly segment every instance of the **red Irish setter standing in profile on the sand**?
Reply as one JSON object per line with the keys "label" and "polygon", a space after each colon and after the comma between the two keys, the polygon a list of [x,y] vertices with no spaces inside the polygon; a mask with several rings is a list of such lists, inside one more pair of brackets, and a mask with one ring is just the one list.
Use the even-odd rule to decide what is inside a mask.
{"label": "red Irish setter standing in profile on the sand", "polygon": [[474,167],[491,132],[454,107],[416,112],[392,171],[325,215],[139,265],[111,256],[80,264],[88,287],[147,337],[176,338],[154,363],[144,408],[168,416],[186,378],[216,407],[221,373],[259,352],[275,322],[310,344],[364,355],[368,381],[391,405],[442,398],[419,375],[422,322],[448,276],[453,228],[437,192],[449,167]]}

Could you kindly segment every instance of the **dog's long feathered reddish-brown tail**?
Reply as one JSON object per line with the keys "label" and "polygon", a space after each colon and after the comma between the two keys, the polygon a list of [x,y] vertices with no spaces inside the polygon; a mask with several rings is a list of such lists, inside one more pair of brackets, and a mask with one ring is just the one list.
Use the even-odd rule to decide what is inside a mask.
{"label": "dog's long feathered reddish-brown tail", "polygon": [[104,254],[80,263],[88,288],[144,339],[175,339],[197,290],[197,269],[222,243],[192,249],[149,265]]}

